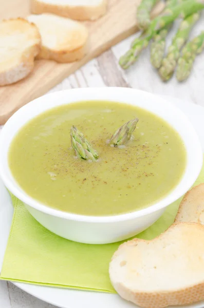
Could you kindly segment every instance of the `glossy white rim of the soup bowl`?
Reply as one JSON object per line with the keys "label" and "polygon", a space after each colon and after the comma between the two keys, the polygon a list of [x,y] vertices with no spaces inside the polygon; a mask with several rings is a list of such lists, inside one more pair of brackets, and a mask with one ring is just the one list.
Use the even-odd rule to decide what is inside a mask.
{"label": "glossy white rim of the soup bowl", "polygon": [[[39,103],[40,101],[47,101],[47,99],[49,99],[50,97],[56,97],[56,100],[58,98],[58,95],[67,95],[70,94],[71,92],[81,92],[82,94],[82,98],[84,95],[86,95],[87,93],[90,94],[92,93],[92,91],[106,91],[106,92],[113,92],[113,91],[119,91],[121,93],[137,93],[137,94],[141,94],[145,95],[146,98],[153,98],[155,96],[157,96],[158,100],[161,101],[162,103],[165,104],[165,107],[168,106],[168,108],[174,110],[178,117],[183,120],[186,121],[186,124],[188,125],[188,128],[190,129],[191,132],[191,137],[193,137],[194,140],[194,146],[197,147],[197,158],[196,158],[196,162],[195,163],[195,169],[194,169],[194,176],[192,176],[190,183],[186,186],[186,188],[182,189],[180,192],[180,194],[177,194],[176,196],[174,196],[174,191],[175,189],[178,187],[178,185],[180,184],[181,180],[184,178],[186,172],[184,171],[180,181],[177,183],[177,185],[173,188],[173,190],[171,190],[169,192],[169,194],[165,195],[163,198],[161,198],[161,200],[159,200],[158,202],[137,210],[137,211],[132,211],[130,213],[125,213],[125,214],[119,214],[119,215],[113,215],[113,216],[86,216],[86,215],[79,215],[79,214],[72,214],[72,213],[67,213],[58,209],[54,209],[51,208],[47,205],[44,205],[43,203],[39,202],[38,200],[35,200],[34,198],[30,197],[29,195],[26,194],[26,192],[20,187],[18,186],[18,184],[16,183],[14,177],[12,176],[12,174],[10,174],[10,176],[12,177],[13,181],[15,182],[15,185],[13,185],[13,183],[9,180],[9,176],[7,175],[7,172],[5,172],[4,169],[4,164],[5,161],[3,160],[2,157],[2,152],[0,152],[0,176],[2,177],[2,180],[5,184],[5,186],[8,188],[8,190],[10,190],[10,192],[17,197],[18,199],[20,199],[21,201],[23,201],[23,203],[27,204],[28,206],[41,211],[42,213],[54,216],[54,217],[59,217],[59,218],[63,218],[63,219],[67,219],[67,220],[73,220],[73,221],[83,221],[83,222],[94,222],[94,223],[110,223],[110,222],[118,222],[118,221],[126,221],[126,220],[132,220],[135,219],[137,217],[142,217],[145,215],[149,215],[154,213],[157,210],[161,210],[165,207],[167,207],[168,205],[170,205],[171,203],[173,203],[174,201],[176,201],[177,199],[179,199],[181,196],[183,196],[190,188],[191,186],[194,184],[194,182],[196,181],[201,167],[202,167],[202,161],[203,161],[203,153],[202,153],[202,148],[201,148],[201,144],[199,141],[199,138],[197,136],[197,133],[193,127],[193,125],[191,124],[191,122],[188,120],[187,116],[177,107],[175,107],[173,104],[171,104],[169,101],[166,101],[163,97],[159,97],[158,95],[154,95],[152,93],[149,92],[145,92],[142,90],[137,90],[137,89],[133,89],[133,88],[122,88],[122,87],[100,87],[100,88],[76,88],[76,89],[67,89],[67,90],[62,90],[62,91],[57,91],[57,92],[52,92],[52,93],[48,93],[43,95],[42,97],[39,97],[33,101],[31,101],[30,103],[28,103],[27,105],[23,106],[22,108],[18,109],[12,116],[11,118],[7,121],[7,123],[4,125],[2,132],[0,134],[0,148],[3,147],[3,143],[4,143],[4,138],[7,135],[7,130],[9,129],[9,127],[12,126],[12,122],[16,119],[18,119],[19,117],[22,117],[22,114],[24,112],[26,112],[27,110],[29,110],[30,108],[35,108],[33,107],[34,105],[36,105],[36,103]],[[129,92],[129,93],[128,93]],[[95,100],[97,101],[98,99],[81,99],[81,101],[76,101],[77,102],[82,102],[82,101],[91,101],[91,100]],[[110,101],[114,101],[114,100],[110,100]],[[115,100],[115,102],[117,101],[117,99]],[[75,102],[75,101],[73,101]],[[69,102],[70,103],[70,102]],[[67,104],[69,104],[67,103]],[[123,102],[125,103],[125,102]],[[59,105],[64,105],[65,103],[59,104]],[[127,104],[131,104],[131,103],[127,103]],[[133,104],[132,104],[133,105]],[[46,110],[52,109],[54,108],[49,107],[46,108]],[[148,108],[144,109],[148,110]],[[40,111],[38,114],[43,113],[44,111]],[[154,113],[153,111],[151,111],[152,113]],[[34,115],[35,117],[36,115]],[[32,117],[32,118],[34,118]],[[162,118],[160,116],[160,118]],[[29,122],[30,119],[27,121]],[[165,120],[164,120],[165,121]],[[20,125],[17,129],[17,131],[23,127],[25,125],[25,123],[23,125]],[[16,133],[17,133],[16,131]],[[13,139],[13,138],[12,138]],[[9,148],[9,147],[8,147]],[[8,162],[8,150],[7,150],[7,159],[6,162]],[[187,149],[187,153],[188,153],[188,149]],[[186,168],[188,167],[189,162],[187,161],[186,164]],[[10,172],[11,173],[11,172]],[[22,190],[22,191],[21,191]],[[174,196],[174,197],[173,197]],[[163,200],[165,201],[166,199],[169,199],[170,201],[168,201],[168,203],[166,204],[166,202],[162,202]]]}

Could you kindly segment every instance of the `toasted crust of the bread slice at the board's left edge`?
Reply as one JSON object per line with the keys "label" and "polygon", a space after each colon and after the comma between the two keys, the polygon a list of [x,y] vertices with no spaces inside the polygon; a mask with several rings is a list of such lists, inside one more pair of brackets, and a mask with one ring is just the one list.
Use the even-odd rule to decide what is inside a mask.
{"label": "toasted crust of the bread slice at the board's left edge", "polygon": [[[12,18],[3,21],[2,26],[5,26],[5,28],[7,28],[7,26],[12,27],[11,23],[13,23],[15,29],[19,25],[21,31],[27,31],[27,29],[29,31],[31,30],[33,32],[33,37],[31,37],[30,40],[33,40],[33,44],[25,48],[19,46],[19,49],[15,50],[12,55],[13,65],[7,67],[4,65],[4,62],[2,63],[0,66],[0,86],[16,83],[30,74],[34,67],[34,57],[38,55],[41,50],[41,36],[38,28],[34,24],[29,23],[24,18]],[[8,46],[8,50],[9,48]]]}

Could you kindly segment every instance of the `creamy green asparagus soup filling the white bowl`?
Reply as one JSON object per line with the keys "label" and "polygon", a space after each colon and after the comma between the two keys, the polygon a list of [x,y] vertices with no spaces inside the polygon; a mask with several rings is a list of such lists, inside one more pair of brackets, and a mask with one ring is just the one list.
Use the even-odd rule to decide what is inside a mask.
{"label": "creamy green asparagus soup filling the white bowl", "polygon": [[[108,143],[135,118],[131,139],[127,124],[115,143]],[[80,143],[81,133],[85,140]],[[41,203],[108,216],[148,207],[168,195],[183,175],[186,149],[179,134],[153,113],[90,101],[50,109],[28,122],[11,143],[9,165],[22,189]]]}

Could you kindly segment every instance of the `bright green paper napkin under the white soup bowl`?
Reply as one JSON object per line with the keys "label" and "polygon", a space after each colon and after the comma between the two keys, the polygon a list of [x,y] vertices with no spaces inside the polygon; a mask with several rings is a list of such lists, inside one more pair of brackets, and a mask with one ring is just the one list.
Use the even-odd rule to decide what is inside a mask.
{"label": "bright green paper napkin under the white soup bowl", "polygon": [[[202,182],[204,166],[194,185]],[[121,242],[88,245],[65,240],[40,225],[20,200],[11,197],[14,215],[1,279],[115,293],[108,265]],[[180,200],[137,237],[152,239],[164,232],[173,223]]]}

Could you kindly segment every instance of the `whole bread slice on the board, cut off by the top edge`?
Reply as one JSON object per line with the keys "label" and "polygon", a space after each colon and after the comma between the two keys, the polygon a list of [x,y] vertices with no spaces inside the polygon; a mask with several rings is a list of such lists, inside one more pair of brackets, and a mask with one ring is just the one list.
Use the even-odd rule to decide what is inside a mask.
{"label": "whole bread slice on the board, cut off by the top edge", "polygon": [[33,14],[53,13],[74,20],[97,20],[107,10],[107,0],[31,0]]}

